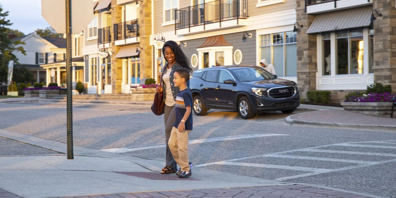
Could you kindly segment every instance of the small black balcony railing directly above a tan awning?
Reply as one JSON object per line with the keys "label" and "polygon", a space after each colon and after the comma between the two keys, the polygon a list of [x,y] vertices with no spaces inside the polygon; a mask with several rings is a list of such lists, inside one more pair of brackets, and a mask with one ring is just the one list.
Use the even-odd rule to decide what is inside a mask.
{"label": "small black balcony railing directly above a tan awning", "polygon": [[139,19],[114,24],[114,40],[139,36]]}

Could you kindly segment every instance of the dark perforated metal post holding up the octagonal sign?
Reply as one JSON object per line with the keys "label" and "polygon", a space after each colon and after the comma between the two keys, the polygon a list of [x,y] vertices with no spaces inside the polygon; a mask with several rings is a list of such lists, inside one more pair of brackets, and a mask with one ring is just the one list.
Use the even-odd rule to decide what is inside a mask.
{"label": "dark perforated metal post holding up the octagonal sign", "polygon": [[67,72],[67,159],[74,159],[73,155],[73,114],[72,114],[72,5],[66,0],[66,72]]}

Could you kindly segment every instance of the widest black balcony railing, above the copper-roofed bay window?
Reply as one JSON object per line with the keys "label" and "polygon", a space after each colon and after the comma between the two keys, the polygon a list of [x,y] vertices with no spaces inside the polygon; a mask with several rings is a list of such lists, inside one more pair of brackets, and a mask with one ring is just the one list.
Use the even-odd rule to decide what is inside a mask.
{"label": "widest black balcony railing, above the copper-roofed bay window", "polygon": [[216,0],[175,10],[175,29],[183,29],[232,19],[246,19],[247,0]]}

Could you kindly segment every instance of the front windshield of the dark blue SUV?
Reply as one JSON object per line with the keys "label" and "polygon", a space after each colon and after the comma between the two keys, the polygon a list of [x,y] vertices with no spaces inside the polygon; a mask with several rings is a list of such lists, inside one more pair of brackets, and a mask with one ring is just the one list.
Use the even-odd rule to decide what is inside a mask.
{"label": "front windshield of the dark blue SUV", "polygon": [[232,70],[235,76],[243,82],[274,79],[269,72],[257,67],[244,67]]}

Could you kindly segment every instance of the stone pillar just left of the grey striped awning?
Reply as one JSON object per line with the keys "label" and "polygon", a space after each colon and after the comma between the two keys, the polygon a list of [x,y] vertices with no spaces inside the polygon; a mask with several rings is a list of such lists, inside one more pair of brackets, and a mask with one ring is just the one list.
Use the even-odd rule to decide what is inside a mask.
{"label": "stone pillar just left of the grey striped awning", "polygon": [[316,90],[317,46],[316,34],[307,34],[315,15],[305,13],[305,0],[297,0],[297,22],[304,25],[297,31],[297,84],[300,98],[307,100],[307,91]]}

